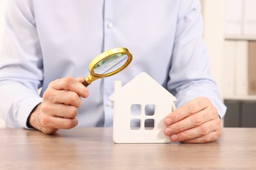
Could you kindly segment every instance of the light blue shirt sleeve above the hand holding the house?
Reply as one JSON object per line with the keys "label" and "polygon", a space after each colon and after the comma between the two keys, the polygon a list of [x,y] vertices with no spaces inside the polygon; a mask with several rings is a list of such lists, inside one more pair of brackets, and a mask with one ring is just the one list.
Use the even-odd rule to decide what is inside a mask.
{"label": "light blue shirt sleeve above the hand holding the house", "polygon": [[199,96],[208,97],[223,118],[226,107],[209,74],[209,57],[202,39],[200,2],[180,2],[167,88],[177,97],[177,107]]}

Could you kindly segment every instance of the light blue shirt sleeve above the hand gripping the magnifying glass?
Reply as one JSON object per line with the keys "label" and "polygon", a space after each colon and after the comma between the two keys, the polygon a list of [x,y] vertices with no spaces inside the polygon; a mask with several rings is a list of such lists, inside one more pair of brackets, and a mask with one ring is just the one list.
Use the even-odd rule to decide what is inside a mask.
{"label": "light blue shirt sleeve above the hand gripping the magnifying glass", "polygon": [[6,127],[26,127],[33,108],[41,102],[38,89],[43,62],[33,3],[9,1],[0,55],[0,118]]}

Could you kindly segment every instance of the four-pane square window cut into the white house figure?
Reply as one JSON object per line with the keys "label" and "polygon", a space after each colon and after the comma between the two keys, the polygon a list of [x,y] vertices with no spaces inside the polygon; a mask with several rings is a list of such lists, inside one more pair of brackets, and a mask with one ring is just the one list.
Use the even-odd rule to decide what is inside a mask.
{"label": "four-pane square window cut into the white house figure", "polygon": [[155,127],[155,105],[131,105],[131,122],[132,130],[152,130]]}

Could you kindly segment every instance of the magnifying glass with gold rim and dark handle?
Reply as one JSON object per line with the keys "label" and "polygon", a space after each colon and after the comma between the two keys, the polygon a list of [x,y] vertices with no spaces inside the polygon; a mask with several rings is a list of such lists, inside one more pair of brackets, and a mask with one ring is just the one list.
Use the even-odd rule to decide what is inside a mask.
{"label": "magnifying glass with gold rim and dark handle", "polygon": [[98,78],[112,76],[125,69],[131,63],[132,59],[133,55],[131,55],[127,48],[119,47],[102,52],[102,54],[96,56],[91,61],[89,64],[90,75],[81,81],[81,83],[87,87]]}

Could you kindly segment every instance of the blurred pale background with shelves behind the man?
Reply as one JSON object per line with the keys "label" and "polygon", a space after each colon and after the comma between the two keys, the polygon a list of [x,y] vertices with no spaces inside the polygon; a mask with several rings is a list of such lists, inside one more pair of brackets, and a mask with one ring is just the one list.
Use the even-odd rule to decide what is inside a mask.
{"label": "blurred pale background with shelves behind the man", "polygon": [[[8,1],[0,0],[0,50]],[[256,1],[200,2],[211,75],[228,107],[223,126],[256,127]]]}

